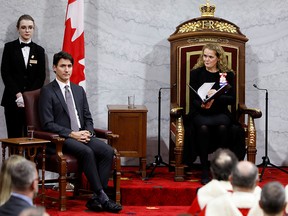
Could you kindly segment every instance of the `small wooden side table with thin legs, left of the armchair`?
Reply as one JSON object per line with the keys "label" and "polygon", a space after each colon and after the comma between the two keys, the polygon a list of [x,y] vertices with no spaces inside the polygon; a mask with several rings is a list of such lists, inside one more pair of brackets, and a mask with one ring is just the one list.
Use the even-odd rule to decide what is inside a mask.
{"label": "small wooden side table with thin legs, left of the armchair", "polygon": [[8,147],[9,155],[18,154],[24,156],[24,153],[27,153],[26,156],[33,162],[35,162],[37,149],[42,149],[42,204],[44,204],[46,143],[50,143],[50,141],[37,138],[29,139],[28,137],[20,137],[0,139],[0,142],[2,142],[2,162],[5,161],[6,147]]}

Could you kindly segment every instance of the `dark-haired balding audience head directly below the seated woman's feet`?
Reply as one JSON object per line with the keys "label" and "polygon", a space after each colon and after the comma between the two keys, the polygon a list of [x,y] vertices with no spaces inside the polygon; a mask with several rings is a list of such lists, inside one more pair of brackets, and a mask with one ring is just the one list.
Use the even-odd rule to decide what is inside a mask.
{"label": "dark-haired balding audience head directly below the seated woman's feet", "polygon": [[222,148],[217,149],[211,159],[210,166],[213,179],[228,181],[237,163],[238,159],[232,151]]}

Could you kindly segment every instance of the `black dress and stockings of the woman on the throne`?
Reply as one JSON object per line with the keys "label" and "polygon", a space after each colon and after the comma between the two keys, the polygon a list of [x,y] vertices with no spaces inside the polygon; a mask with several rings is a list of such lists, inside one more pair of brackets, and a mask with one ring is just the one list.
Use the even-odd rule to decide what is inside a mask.
{"label": "black dress and stockings of the woman on the throne", "polygon": [[[185,144],[184,163],[191,164],[199,155],[202,168],[209,169],[208,154],[217,148],[229,147],[229,128],[232,124],[232,115],[228,105],[235,103],[234,73],[227,72],[227,82],[231,88],[216,98],[209,109],[201,108],[202,101],[190,93],[190,110],[184,119]],[[220,88],[220,73],[211,73],[205,67],[192,70],[190,85],[198,90],[203,83],[214,85],[212,89]]]}

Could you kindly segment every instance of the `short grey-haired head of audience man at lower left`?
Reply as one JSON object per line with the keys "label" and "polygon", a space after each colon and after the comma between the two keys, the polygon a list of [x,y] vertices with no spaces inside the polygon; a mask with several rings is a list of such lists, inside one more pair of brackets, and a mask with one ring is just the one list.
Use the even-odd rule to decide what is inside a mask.
{"label": "short grey-haired head of audience man at lower left", "polygon": [[33,198],[38,193],[38,172],[35,163],[23,160],[10,171],[12,192]]}

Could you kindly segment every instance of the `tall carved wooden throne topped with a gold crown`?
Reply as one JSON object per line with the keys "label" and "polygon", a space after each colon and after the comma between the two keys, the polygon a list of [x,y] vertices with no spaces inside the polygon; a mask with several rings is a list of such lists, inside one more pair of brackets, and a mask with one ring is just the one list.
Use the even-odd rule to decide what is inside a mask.
{"label": "tall carved wooden throne topped with a gold crown", "polygon": [[[258,109],[245,106],[245,43],[248,38],[239,27],[222,18],[214,17],[215,5],[209,1],[200,6],[201,17],[188,20],[176,27],[176,31],[168,38],[170,41],[170,85],[171,118],[169,163],[175,168],[175,181],[184,180],[182,164],[184,126],[183,115],[189,112],[190,70],[201,54],[203,45],[219,43],[227,56],[230,68],[235,72],[236,104],[231,106],[235,119],[246,131],[247,159],[255,163],[256,129],[254,119],[262,113]],[[245,118],[247,116],[247,118]]]}

